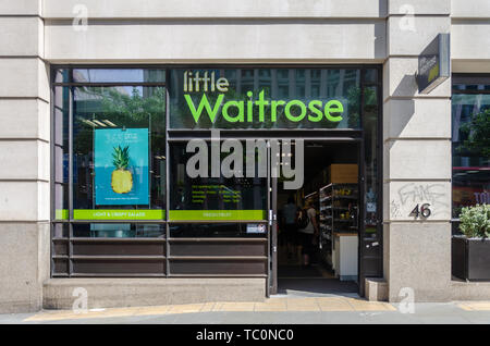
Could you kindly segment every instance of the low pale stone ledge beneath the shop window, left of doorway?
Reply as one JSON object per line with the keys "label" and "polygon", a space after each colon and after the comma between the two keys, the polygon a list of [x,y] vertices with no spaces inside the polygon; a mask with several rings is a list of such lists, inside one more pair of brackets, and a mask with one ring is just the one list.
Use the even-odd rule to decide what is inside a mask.
{"label": "low pale stone ledge beneath the shop window, left of doorway", "polygon": [[233,279],[50,279],[44,284],[45,309],[72,309],[83,287],[88,309],[210,301],[264,301],[266,280]]}

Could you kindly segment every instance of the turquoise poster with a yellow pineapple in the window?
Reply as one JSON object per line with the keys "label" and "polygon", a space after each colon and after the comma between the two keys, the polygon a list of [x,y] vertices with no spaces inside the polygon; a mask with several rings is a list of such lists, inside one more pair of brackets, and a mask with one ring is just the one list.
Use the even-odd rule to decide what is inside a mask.
{"label": "turquoise poster with a yellow pineapple in the window", "polygon": [[96,205],[148,205],[148,128],[98,128],[94,137]]}

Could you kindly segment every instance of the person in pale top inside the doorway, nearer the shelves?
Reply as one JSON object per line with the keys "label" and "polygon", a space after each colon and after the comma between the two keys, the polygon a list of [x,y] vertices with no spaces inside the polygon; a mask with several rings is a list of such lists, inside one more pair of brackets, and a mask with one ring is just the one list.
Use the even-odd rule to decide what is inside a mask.
{"label": "person in pale top inside the doorway, nearer the shelves", "polygon": [[303,267],[309,267],[319,235],[317,210],[311,200],[307,200],[305,208],[298,212],[297,223],[301,226],[298,234],[302,239]]}

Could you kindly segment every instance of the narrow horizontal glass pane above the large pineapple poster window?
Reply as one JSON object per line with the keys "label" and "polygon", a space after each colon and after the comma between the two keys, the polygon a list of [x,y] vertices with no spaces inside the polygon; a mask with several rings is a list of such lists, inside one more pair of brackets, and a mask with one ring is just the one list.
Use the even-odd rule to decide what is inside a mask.
{"label": "narrow horizontal glass pane above the large pineapple poster window", "polygon": [[76,83],[164,83],[166,70],[74,69]]}

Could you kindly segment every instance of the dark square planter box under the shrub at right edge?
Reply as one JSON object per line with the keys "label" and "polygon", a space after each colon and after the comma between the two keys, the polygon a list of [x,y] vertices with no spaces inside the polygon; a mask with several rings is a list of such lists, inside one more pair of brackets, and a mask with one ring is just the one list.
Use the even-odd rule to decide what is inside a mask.
{"label": "dark square planter box under the shrub at right edge", "polygon": [[490,239],[452,238],[452,274],[469,281],[490,281]]}

